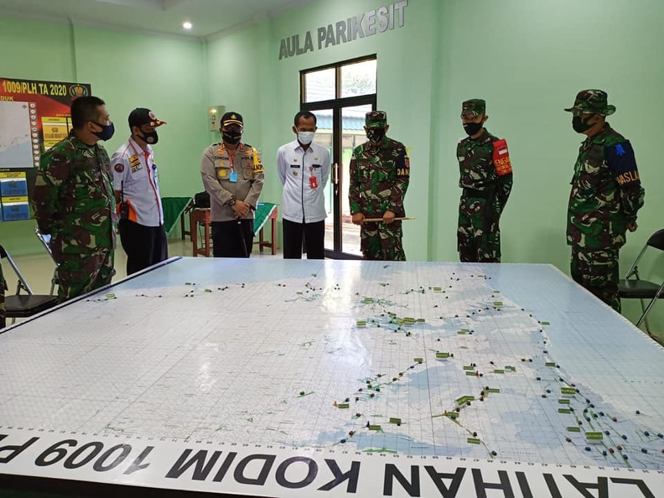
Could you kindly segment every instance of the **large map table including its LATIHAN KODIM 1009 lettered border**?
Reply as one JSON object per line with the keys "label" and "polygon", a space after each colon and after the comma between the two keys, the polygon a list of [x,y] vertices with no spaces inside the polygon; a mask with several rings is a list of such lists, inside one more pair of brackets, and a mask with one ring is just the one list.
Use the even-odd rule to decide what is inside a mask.
{"label": "large map table including its LATIHAN KODIM 1009 lettered border", "polygon": [[0,474],[661,497],[664,350],[553,266],[173,259],[0,335]]}

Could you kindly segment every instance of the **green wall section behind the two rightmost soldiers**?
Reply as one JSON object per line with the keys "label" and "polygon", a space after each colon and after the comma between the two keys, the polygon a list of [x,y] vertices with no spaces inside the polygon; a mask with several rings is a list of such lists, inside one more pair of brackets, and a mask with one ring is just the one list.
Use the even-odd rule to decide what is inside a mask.
{"label": "green wall section behind the two rightmost soldiers", "polygon": [[[452,199],[454,151],[463,134],[460,102],[481,96],[488,101],[489,129],[508,139],[515,168],[513,195],[501,219],[504,261],[553,263],[569,273],[565,214],[569,182],[583,136],[571,129],[564,112],[584,88],[601,88],[618,111],[609,122],[636,150],[646,189],[639,230],[629,234],[620,254],[624,273],[650,234],[664,228],[664,169],[658,133],[664,113],[661,47],[664,4],[658,0],[475,0],[444,2],[437,44],[448,65],[439,67],[446,93],[434,102],[439,140],[432,152],[432,259],[454,259]],[[415,4],[415,2],[414,2]],[[475,34],[471,21],[485,19]],[[492,26],[496,27],[495,29]],[[443,71],[445,74],[443,74]],[[664,255],[647,257],[642,275],[664,279]],[[640,308],[624,302],[635,320]],[[664,303],[662,303],[664,304]],[[664,335],[664,306],[651,324]]]}

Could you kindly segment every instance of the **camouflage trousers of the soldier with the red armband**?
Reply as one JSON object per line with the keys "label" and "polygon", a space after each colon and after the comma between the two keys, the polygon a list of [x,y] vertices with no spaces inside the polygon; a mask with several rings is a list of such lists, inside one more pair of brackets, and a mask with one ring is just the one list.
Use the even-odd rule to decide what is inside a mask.
{"label": "camouflage trousers of the soldier with the red armband", "polygon": [[457,250],[462,263],[500,263],[498,219],[486,219],[486,199],[461,197]]}

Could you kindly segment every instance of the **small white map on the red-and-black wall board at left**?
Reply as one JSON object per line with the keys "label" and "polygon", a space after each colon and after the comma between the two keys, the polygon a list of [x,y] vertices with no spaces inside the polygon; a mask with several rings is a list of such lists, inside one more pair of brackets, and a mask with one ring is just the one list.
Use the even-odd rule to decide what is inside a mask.
{"label": "small white map on the red-and-black wall board at left", "polygon": [[28,102],[0,101],[0,169],[33,166]]}

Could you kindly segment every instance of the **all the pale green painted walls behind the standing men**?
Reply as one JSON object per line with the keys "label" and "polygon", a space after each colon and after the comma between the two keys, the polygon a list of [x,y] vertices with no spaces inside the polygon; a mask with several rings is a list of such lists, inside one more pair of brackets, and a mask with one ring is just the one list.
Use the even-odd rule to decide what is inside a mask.
{"label": "all the pale green painted walls behind the standing men", "polygon": [[[634,144],[647,191],[640,228],[621,253],[624,273],[663,224],[657,187],[664,185],[664,171],[656,147],[664,111],[661,1],[409,0],[403,28],[279,60],[283,37],[302,37],[306,30],[315,37],[319,26],[383,3],[321,0],[205,44],[0,17],[0,72],[51,80],[77,73],[91,82],[120,125],[109,150],[124,138],[124,116],[132,107],[153,107],[169,121],[157,146],[165,195],[201,190],[201,151],[219,138],[207,131],[207,107],[239,111],[247,142],[264,154],[263,199],[278,203],[275,154],[292,140],[299,71],[376,53],[378,107],[388,113],[390,135],[413,147],[406,208],[417,220],[405,225],[409,259],[457,260],[459,111],[462,100],[483,97],[488,127],[508,139],[515,167],[501,222],[504,261],[552,263],[566,273],[566,201],[582,137],[562,109],[580,89],[603,88],[618,107],[609,121]],[[56,44],[62,50],[51,49],[42,59],[42,48]],[[31,60],[39,63],[26,64]],[[39,251],[31,225],[5,226],[0,238],[8,239],[10,250]],[[664,279],[664,255],[653,252],[642,273]],[[625,303],[625,314],[637,317],[638,305]],[[654,328],[664,331],[664,306],[651,316]]]}

